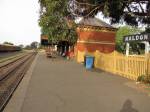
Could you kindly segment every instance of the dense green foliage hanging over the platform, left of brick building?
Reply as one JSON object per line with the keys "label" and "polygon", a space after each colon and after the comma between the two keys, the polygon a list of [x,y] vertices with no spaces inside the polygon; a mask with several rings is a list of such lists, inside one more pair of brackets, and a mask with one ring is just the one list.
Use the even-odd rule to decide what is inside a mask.
{"label": "dense green foliage hanging over the platform, left of brick building", "polygon": [[69,28],[67,25],[68,0],[39,0],[39,2],[41,6],[39,25],[42,34],[48,35],[51,42],[74,41],[75,27]]}

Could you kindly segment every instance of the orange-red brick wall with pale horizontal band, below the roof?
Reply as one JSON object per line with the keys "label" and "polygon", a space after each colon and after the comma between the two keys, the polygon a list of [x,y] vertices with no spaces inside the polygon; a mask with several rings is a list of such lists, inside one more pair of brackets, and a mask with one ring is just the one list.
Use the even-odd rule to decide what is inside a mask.
{"label": "orange-red brick wall with pale horizontal band, below the roof", "polygon": [[84,31],[77,30],[77,50],[103,53],[110,53],[115,50],[115,31]]}

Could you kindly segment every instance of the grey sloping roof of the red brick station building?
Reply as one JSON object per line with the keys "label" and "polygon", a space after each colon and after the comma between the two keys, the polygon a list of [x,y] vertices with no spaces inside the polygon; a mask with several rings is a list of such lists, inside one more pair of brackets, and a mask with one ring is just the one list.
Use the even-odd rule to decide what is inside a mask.
{"label": "grey sloping roof of the red brick station building", "polygon": [[104,21],[102,21],[98,18],[85,18],[85,19],[82,19],[79,22],[79,25],[114,28],[113,26],[105,23]]}

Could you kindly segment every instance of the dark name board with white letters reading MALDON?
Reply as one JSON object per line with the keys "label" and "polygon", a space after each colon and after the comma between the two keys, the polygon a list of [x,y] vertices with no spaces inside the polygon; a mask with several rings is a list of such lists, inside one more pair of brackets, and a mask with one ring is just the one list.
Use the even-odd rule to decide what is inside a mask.
{"label": "dark name board with white letters reading MALDON", "polygon": [[150,34],[137,34],[124,36],[124,42],[134,42],[134,41],[150,41]]}

